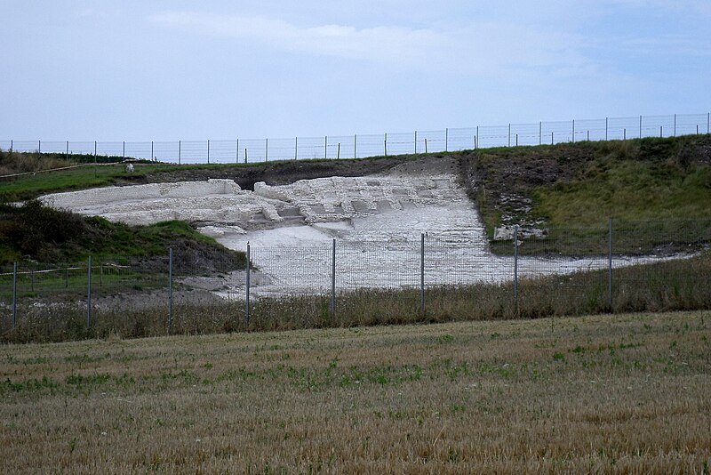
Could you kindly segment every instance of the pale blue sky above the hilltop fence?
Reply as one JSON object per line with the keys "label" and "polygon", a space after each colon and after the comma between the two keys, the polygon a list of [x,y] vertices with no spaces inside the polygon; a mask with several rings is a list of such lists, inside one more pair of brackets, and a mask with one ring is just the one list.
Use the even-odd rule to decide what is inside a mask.
{"label": "pale blue sky above the hilltop fence", "polygon": [[711,109],[708,0],[0,0],[0,140],[398,133]]}

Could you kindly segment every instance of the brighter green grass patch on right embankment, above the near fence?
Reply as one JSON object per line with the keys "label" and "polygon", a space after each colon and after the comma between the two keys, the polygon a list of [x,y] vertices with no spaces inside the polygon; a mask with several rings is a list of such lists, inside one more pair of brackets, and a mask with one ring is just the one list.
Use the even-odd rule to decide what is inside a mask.
{"label": "brighter green grass patch on right embankment, above the near fence", "polygon": [[618,149],[597,149],[594,159],[571,180],[534,190],[534,213],[554,225],[595,224],[601,216],[706,218],[711,209],[711,166],[696,154],[688,161],[683,157],[685,149],[697,144],[647,139],[618,144]]}

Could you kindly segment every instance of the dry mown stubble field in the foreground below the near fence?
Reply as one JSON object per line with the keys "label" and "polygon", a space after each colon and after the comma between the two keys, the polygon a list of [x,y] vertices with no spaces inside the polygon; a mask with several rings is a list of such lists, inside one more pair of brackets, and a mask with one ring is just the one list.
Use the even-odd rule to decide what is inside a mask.
{"label": "dry mown stubble field in the foreground below the near fence", "polygon": [[711,464],[711,312],[0,347],[0,471]]}

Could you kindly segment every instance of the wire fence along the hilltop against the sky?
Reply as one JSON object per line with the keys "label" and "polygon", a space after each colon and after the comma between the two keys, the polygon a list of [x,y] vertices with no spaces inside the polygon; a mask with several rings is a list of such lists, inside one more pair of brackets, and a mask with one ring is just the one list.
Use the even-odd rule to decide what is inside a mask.
{"label": "wire fence along the hilltop against the sky", "polygon": [[435,131],[204,141],[0,141],[0,149],[156,160],[176,164],[363,158],[575,141],[711,133],[711,113],[605,117]]}

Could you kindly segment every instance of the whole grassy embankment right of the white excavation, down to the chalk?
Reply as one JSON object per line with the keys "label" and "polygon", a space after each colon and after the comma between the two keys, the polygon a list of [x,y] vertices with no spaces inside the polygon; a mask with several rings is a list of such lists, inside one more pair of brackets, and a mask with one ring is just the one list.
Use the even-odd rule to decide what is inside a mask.
{"label": "whole grassy embankment right of the white excavation, down to the chalk", "polygon": [[711,241],[709,136],[482,149],[464,154],[462,165],[491,238],[501,225],[549,231],[523,253],[603,251],[609,218],[620,253]]}

